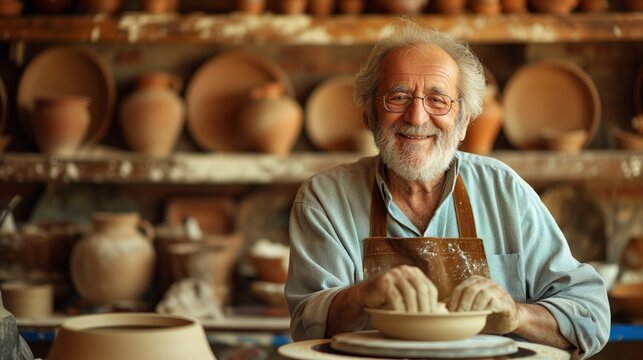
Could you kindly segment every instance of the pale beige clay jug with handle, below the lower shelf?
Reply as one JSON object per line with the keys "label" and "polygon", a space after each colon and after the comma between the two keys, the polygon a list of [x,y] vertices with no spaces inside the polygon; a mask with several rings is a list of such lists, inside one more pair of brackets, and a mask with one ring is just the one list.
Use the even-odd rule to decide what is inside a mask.
{"label": "pale beige clay jug with handle, below the lower shelf", "polygon": [[153,238],[154,229],[137,213],[95,213],[91,231],[71,253],[71,278],[80,296],[96,305],[138,300],[152,280]]}

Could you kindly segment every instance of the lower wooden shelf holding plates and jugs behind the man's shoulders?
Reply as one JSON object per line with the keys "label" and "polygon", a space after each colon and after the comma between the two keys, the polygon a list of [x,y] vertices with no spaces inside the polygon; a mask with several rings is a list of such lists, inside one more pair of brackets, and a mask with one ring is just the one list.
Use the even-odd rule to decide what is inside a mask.
{"label": "lower wooden shelf holding plates and jugs behind the man's shoulders", "polygon": [[[332,166],[352,162],[356,153],[293,153],[278,157],[253,153],[179,153],[168,158],[135,154],[50,157],[0,156],[0,182],[271,184],[299,183]],[[594,181],[643,184],[643,152],[504,151],[492,154],[530,182]]]}

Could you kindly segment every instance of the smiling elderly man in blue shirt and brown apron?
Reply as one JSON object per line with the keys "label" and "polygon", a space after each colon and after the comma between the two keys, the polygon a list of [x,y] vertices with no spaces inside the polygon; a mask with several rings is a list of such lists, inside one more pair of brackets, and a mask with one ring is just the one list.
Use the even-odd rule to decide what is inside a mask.
{"label": "smiling elderly man in blue shirt and brown apron", "polygon": [[355,80],[380,154],[311,177],[293,204],[293,339],[365,329],[364,308],[444,304],[491,310],[486,333],[598,352],[610,325],[599,275],[513,170],[457,151],[482,111],[479,60],[447,34],[395,25]]}

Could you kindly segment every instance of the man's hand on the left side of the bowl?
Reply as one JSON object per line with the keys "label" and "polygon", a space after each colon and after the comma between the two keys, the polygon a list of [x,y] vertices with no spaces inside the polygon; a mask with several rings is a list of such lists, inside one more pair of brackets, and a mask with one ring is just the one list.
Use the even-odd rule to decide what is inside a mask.
{"label": "man's hand on the left side of the bowl", "polygon": [[438,307],[437,288],[414,266],[395,267],[358,287],[358,301],[365,308],[434,312]]}

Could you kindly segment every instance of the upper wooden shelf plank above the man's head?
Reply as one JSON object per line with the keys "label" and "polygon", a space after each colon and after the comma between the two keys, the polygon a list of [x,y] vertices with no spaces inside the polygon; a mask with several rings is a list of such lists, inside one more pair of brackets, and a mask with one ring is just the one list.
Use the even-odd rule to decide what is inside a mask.
{"label": "upper wooden shelf plank above the man's head", "polygon": [[[6,42],[355,45],[376,41],[393,19],[375,14],[22,16],[0,19],[0,35]],[[643,40],[643,13],[425,15],[416,19],[472,43]]]}

